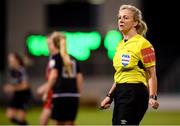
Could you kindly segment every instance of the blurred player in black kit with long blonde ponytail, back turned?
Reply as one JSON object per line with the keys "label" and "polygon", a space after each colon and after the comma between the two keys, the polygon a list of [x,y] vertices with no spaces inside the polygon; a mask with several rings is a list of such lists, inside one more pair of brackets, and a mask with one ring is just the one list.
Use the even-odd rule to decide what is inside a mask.
{"label": "blurred player in black kit with long blonde ponytail, back turned", "polygon": [[44,99],[52,90],[51,118],[57,125],[74,125],[83,77],[78,63],[67,54],[66,38],[62,33],[52,33],[47,42],[51,58]]}

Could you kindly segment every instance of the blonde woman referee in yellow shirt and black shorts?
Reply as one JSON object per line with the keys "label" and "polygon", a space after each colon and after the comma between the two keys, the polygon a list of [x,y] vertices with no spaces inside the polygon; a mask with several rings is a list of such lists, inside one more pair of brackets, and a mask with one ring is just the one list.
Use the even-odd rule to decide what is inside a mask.
{"label": "blonde woman referee in yellow shirt and black shorts", "polygon": [[147,26],[139,9],[122,5],[118,27],[123,40],[118,44],[113,59],[115,83],[101,102],[101,107],[108,108],[114,99],[113,125],[139,125],[148,101],[154,109],[159,106],[155,52],[143,37]]}

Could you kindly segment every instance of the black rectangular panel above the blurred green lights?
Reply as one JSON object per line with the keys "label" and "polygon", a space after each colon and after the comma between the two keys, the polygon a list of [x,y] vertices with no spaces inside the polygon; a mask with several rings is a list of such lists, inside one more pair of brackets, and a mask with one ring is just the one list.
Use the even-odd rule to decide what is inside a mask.
{"label": "black rectangular panel above the blurred green lights", "polygon": [[49,4],[47,26],[50,28],[91,29],[96,26],[96,5],[87,1],[65,1],[62,4]]}

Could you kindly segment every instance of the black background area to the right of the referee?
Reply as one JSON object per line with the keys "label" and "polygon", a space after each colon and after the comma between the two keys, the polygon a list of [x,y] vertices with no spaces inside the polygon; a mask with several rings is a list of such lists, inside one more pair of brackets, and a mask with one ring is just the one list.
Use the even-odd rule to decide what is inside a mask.
{"label": "black background area to the right of the referee", "polygon": [[[171,83],[171,76],[179,83],[179,70],[176,69],[180,58],[179,53],[179,13],[178,1],[150,1],[142,0],[144,19],[148,24],[148,40],[154,45],[157,56],[157,74],[159,80],[159,90],[162,92],[172,92],[172,88],[167,88]],[[170,75],[169,75],[170,74]],[[168,78],[169,77],[169,78]],[[164,79],[166,78],[166,79]],[[173,79],[174,79],[173,78]],[[167,83],[164,83],[164,80]],[[179,91],[179,86],[174,91]]]}

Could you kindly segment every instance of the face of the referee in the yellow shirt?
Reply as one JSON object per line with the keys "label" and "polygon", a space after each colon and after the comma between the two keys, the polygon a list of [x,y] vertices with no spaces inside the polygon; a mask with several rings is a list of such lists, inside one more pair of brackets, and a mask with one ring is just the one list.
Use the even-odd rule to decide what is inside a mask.
{"label": "face of the referee in the yellow shirt", "polygon": [[118,14],[118,27],[122,33],[127,33],[132,28],[135,28],[136,22],[134,21],[134,15],[131,10],[123,9]]}

